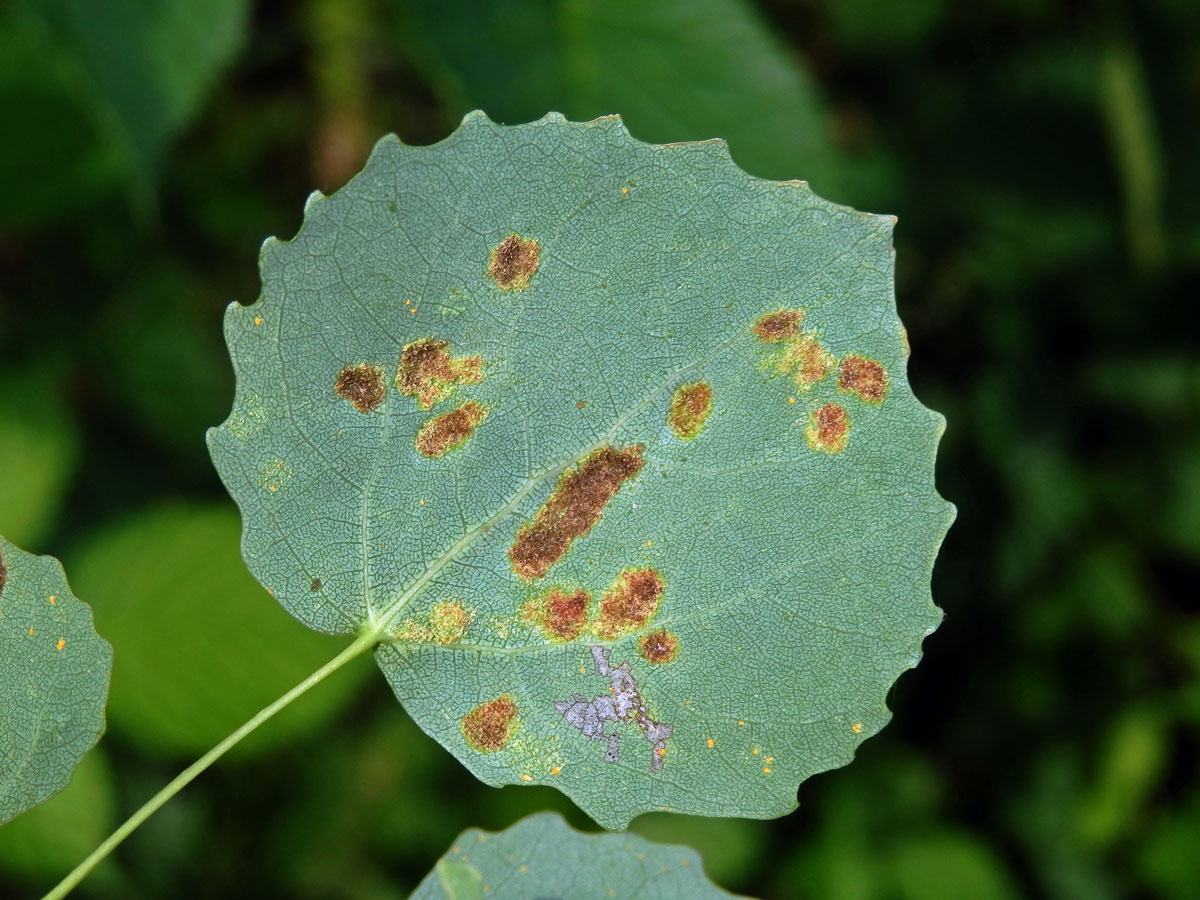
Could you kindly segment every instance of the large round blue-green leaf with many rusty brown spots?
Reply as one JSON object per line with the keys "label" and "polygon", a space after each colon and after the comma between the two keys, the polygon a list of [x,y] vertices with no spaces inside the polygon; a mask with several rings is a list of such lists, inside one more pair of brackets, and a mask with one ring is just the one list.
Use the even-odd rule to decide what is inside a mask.
{"label": "large round blue-green leaf with many rusty brown spots", "polygon": [[940,620],[892,227],[614,116],[382,139],[227,312],[250,569],[378,630],[487,784],[608,828],[787,812]]}

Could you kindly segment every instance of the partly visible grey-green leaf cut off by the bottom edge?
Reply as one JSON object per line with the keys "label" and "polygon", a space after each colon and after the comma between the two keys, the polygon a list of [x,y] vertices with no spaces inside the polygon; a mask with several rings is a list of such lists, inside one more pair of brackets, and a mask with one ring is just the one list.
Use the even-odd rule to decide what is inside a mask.
{"label": "partly visible grey-green leaf cut off by the bottom edge", "polygon": [[539,812],[503,832],[470,828],[410,900],[732,900],[704,877],[690,847],[636,834],[584,834],[557,812]]}

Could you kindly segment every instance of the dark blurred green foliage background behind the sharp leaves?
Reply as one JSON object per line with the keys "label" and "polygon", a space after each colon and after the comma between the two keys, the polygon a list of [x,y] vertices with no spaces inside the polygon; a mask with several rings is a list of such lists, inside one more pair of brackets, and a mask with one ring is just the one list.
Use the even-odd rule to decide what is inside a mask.
{"label": "dark blurred green foliage background behind the sharp leaves", "polygon": [[[895,721],[787,818],[635,828],[763,898],[1200,896],[1194,0],[0,4],[0,532],[116,647],[109,734],[0,833],[0,896],[340,646],[240,564],[203,440],[221,313],[312,188],[474,107],[724,137],[896,214],[911,377],[949,420],[946,622]],[[474,782],[360,662],[78,895],[390,900],[463,827],[586,824]]]}

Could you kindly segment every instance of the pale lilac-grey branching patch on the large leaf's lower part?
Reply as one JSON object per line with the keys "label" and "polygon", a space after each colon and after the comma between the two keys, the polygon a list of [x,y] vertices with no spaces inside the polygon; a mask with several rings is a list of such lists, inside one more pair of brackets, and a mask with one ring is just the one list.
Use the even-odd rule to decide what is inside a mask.
{"label": "pale lilac-grey branching patch on the large leaf's lower part", "polygon": [[650,772],[658,772],[662,768],[666,742],[674,732],[674,726],[650,719],[628,661],[619,666],[610,665],[607,647],[593,647],[592,660],[595,662],[596,674],[608,679],[608,690],[592,700],[575,694],[571,700],[556,701],[554,709],[584,737],[607,744],[604,758],[610,763],[620,760],[620,734],[605,731],[605,722],[635,726],[650,744]]}

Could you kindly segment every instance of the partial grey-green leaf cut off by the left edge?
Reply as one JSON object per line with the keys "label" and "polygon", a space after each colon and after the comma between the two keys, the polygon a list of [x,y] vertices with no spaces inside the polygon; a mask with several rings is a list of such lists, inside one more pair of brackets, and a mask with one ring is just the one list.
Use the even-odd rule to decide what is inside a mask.
{"label": "partial grey-green leaf cut off by the left edge", "polygon": [[0,538],[0,824],[67,786],[104,733],[112,666],[59,562]]}

